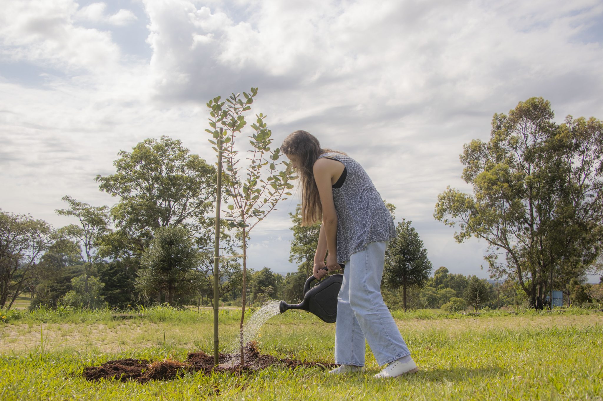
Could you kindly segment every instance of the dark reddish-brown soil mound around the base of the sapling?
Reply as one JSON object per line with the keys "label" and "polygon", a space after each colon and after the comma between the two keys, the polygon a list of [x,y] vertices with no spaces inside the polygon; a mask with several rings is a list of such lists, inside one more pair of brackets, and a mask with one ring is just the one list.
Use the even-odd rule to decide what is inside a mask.
{"label": "dark reddish-brown soil mound around the base of the sapling", "polygon": [[320,367],[330,369],[333,363],[306,362],[289,358],[279,359],[273,355],[260,354],[255,341],[248,343],[244,348],[245,365],[241,366],[240,357],[232,354],[220,354],[218,366],[213,364],[213,356],[205,352],[191,352],[186,361],[156,361],[149,363],[145,360],[131,358],[118,361],[108,361],[101,366],[84,368],[82,376],[89,381],[100,379],[147,382],[149,380],[170,380],[184,375],[187,372],[201,372],[211,375],[212,372],[235,373],[254,372],[267,369],[270,366],[282,366],[289,369],[297,367]]}

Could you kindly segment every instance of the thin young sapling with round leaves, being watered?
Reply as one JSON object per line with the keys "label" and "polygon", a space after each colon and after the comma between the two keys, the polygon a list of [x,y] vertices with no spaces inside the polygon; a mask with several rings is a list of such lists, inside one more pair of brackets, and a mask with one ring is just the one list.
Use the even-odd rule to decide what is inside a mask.
{"label": "thin young sapling with round leaves, being watered", "polygon": [[[247,124],[245,112],[251,109],[257,88],[251,88],[249,94],[231,94],[222,102],[221,97],[214,97],[207,102],[209,108],[209,125],[206,129],[213,135],[209,139],[216,153],[222,153],[224,165],[224,192],[229,197],[229,204],[224,213],[230,219],[230,227],[240,230],[242,237],[243,280],[242,280],[242,313],[240,325],[241,365],[244,365],[243,323],[245,319],[245,290],[247,283],[247,237],[253,227],[262,221],[268,213],[275,209],[279,200],[285,200],[287,192],[293,188],[290,183],[297,177],[292,175],[290,164],[281,159],[279,148],[272,149],[272,132],[267,128],[266,115],[256,114],[256,121],[251,124],[251,135],[248,150],[248,164],[238,166],[241,159],[235,149],[235,139]],[[219,128],[223,128],[222,130]],[[238,143],[238,142],[237,142]],[[279,161],[279,159],[281,159]],[[216,233],[217,235],[217,233]]]}

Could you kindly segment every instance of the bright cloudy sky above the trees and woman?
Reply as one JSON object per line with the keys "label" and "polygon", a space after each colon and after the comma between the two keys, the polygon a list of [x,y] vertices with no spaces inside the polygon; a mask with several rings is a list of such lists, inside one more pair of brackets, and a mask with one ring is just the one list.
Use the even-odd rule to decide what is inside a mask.
{"label": "bright cloudy sky above the trees and woman", "polygon": [[[303,2],[0,0],[0,208],[55,227],[63,195],[99,206],[119,150],[169,135],[207,161],[210,98],[259,87],[275,141],[305,129],[361,162],[434,267],[488,277],[478,240],[435,221],[470,191],[458,155],[532,96],[603,117],[599,0]],[[252,231],[249,265],[293,271],[288,212]],[[591,280],[594,281],[594,280]]]}

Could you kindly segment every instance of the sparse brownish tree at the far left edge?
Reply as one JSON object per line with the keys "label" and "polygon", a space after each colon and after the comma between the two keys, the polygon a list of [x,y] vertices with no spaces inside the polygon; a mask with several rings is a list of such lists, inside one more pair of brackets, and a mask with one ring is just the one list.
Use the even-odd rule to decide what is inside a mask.
{"label": "sparse brownish tree at the far left edge", "polygon": [[55,239],[47,222],[0,211],[0,308],[12,307],[31,270]]}

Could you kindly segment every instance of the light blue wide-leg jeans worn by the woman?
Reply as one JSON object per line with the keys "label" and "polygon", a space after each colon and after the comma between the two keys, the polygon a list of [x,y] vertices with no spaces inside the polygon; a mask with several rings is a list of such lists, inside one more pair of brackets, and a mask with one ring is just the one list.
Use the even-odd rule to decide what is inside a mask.
{"label": "light blue wide-leg jeans worn by the woman", "polygon": [[410,355],[381,296],[385,242],[350,256],[337,298],[335,363],[364,366],[365,338],[379,365]]}

